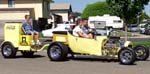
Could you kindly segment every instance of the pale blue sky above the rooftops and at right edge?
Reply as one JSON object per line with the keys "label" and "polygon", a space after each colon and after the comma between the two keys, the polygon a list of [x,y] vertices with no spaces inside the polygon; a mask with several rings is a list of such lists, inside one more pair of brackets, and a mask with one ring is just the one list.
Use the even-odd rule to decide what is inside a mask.
{"label": "pale blue sky above the rooftops and at right edge", "polygon": [[[55,3],[70,3],[72,5],[72,10],[77,12],[82,12],[86,5],[95,3],[97,1],[104,0],[54,0]],[[150,16],[150,2],[149,5],[145,6],[145,11]]]}

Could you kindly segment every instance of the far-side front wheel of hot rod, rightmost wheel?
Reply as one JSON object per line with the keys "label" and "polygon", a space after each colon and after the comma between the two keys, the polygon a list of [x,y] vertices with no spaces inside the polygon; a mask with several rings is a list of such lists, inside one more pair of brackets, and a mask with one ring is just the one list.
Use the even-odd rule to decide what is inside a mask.
{"label": "far-side front wheel of hot rod, rightmost wheel", "polygon": [[145,46],[136,46],[134,48],[134,51],[136,53],[136,59],[137,60],[147,60],[149,57],[149,48],[145,47]]}

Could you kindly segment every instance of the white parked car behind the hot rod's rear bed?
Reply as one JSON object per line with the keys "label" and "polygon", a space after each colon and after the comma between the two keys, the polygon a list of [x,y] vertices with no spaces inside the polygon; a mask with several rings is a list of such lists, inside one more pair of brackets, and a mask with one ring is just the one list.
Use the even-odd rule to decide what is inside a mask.
{"label": "white parked car behind the hot rod's rear bed", "polygon": [[54,29],[43,30],[42,34],[44,37],[52,37],[53,31],[69,31],[72,30],[73,26],[75,26],[75,24],[59,24]]}

